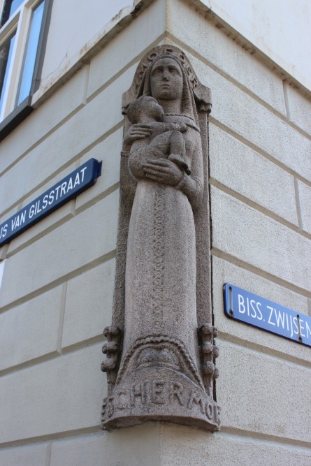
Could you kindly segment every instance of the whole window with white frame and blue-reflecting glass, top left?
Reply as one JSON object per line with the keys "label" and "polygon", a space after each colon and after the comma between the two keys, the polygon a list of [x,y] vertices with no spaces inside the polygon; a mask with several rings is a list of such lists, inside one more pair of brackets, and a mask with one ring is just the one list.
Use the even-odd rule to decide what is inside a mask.
{"label": "whole window with white frame and blue-reflecting glass, top left", "polygon": [[32,110],[51,4],[0,0],[0,140]]}

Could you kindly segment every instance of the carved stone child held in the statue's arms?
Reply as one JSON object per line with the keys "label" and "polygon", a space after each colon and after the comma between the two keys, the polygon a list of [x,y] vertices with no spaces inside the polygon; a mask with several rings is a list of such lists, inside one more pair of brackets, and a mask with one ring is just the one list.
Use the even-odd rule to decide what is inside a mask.
{"label": "carved stone child held in the statue's arms", "polygon": [[164,122],[164,109],[151,96],[140,96],[133,101],[127,116],[132,124],[143,126],[149,133],[149,136],[136,139],[131,144],[129,169],[135,179],[145,177],[144,161],[164,157],[187,175],[191,174],[185,161],[185,140],[182,137],[182,133],[187,131],[185,123]]}

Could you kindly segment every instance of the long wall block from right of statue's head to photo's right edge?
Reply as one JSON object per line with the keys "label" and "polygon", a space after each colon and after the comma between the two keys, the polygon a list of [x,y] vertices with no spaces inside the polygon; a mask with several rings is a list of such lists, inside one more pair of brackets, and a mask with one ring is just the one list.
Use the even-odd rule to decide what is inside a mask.
{"label": "long wall block from right of statue's head to photo's right edge", "polygon": [[202,61],[187,54],[198,79],[212,89],[211,121],[226,126],[277,164],[311,180],[310,139]]}

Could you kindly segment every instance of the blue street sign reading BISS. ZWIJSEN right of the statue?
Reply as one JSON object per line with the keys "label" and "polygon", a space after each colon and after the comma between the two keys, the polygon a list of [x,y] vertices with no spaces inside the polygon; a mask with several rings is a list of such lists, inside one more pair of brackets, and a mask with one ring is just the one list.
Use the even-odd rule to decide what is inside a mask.
{"label": "blue street sign reading BISS. ZWIJSEN right of the statue", "polygon": [[311,317],[229,283],[224,284],[224,312],[233,320],[311,347]]}

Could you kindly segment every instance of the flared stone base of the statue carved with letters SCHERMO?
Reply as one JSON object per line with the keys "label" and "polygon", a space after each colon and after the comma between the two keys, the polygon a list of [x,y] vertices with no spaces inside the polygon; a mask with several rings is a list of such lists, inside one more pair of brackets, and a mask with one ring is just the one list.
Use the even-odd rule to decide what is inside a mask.
{"label": "flared stone base of the statue carved with letters SCHERMO", "polygon": [[[196,368],[191,367],[190,361],[187,361],[187,369],[178,363],[178,345],[150,340],[133,352],[113,393],[104,400],[103,428],[110,430],[144,421],[169,421],[204,430],[219,430],[219,407],[205,392]],[[164,361],[166,352],[171,358],[174,351],[175,363]],[[144,352],[145,362],[141,362],[140,356]],[[157,365],[153,365],[152,357],[158,358]]]}

